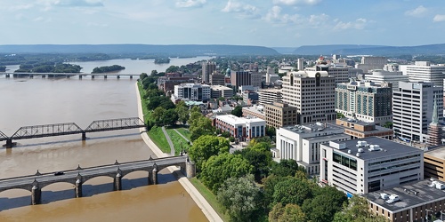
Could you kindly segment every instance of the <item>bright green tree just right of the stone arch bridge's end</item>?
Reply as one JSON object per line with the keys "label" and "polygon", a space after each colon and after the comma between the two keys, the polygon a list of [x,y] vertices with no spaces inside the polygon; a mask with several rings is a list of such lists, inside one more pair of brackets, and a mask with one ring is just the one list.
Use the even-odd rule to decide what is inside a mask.
{"label": "bright green tree just right of the stone arch bridge's end", "polygon": [[202,169],[205,163],[211,156],[228,153],[231,145],[226,139],[205,135],[193,141],[193,146],[189,149],[190,159],[196,163],[197,170]]}

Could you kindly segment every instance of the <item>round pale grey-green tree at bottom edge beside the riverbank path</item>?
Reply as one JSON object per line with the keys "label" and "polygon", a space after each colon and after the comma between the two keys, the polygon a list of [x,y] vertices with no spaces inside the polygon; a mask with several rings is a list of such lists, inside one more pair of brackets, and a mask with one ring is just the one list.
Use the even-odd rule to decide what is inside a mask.
{"label": "round pale grey-green tree at bottom edge beside the riverbank path", "polygon": [[260,188],[254,177],[248,174],[241,178],[228,178],[218,190],[216,200],[223,205],[231,221],[257,221],[261,209]]}

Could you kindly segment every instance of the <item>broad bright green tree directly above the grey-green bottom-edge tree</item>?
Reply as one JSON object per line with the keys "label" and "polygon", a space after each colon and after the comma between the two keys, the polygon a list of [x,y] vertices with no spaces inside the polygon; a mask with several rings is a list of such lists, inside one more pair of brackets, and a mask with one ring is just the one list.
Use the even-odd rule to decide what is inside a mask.
{"label": "broad bright green tree directly above the grey-green bottom-edge tree", "polygon": [[203,164],[199,178],[204,185],[216,193],[226,179],[246,176],[252,170],[254,170],[254,167],[241,155],[223,153],[212,155]]}

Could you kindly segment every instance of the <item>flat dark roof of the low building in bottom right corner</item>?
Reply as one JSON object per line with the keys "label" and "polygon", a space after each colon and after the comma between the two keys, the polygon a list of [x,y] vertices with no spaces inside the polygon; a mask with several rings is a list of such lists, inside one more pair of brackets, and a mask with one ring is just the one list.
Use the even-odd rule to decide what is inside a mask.
{"label": "flat dark roof of the low building in bottom right corner", "polygon": [[[384,209],[392,212],[408,210],[417,205],[423,205],[426,202],[440,201],[445,199],[445,191],[432,186],[433,181],[425,179],[404,186],[393,187],[391,189],[379,190],[364,194],[370,202],[375,202]],[[443,188],[443,187],[442,187]],[[381,194],[396,194],[399,201],[387,203]]]}

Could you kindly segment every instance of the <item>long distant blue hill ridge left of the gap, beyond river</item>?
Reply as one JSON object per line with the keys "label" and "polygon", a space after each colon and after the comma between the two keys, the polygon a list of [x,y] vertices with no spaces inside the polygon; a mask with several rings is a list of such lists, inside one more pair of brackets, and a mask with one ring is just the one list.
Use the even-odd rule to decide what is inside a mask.
{"label": "long distant blue hill ridge left of the gap, beyond river", "polygon": [[198,55],[278,55],[263,47],[229,44],[10,44],[0,45],[0,53],[120,53]]}

